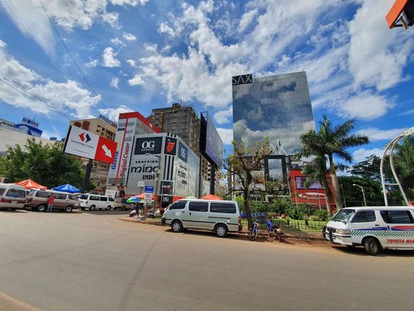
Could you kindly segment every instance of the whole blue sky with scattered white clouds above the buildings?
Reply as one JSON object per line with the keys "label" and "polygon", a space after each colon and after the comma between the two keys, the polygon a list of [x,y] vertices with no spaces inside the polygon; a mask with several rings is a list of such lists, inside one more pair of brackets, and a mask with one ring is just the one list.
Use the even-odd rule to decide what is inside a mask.
{"label": "whole blue sky with scattered white clouds above the buildings", "polygon": [[[386,0],[0,0],[0,117],[36,117],[45,136],[68,119],[116,118],[184,100],[233,138],[231,76],[306,70],[315,120],[357,117],[380,154],[414,125],[413,29],[389,30]],[[52,108],[51,108],[52,107]],[[227,146],[227,149],[229,147]]]}

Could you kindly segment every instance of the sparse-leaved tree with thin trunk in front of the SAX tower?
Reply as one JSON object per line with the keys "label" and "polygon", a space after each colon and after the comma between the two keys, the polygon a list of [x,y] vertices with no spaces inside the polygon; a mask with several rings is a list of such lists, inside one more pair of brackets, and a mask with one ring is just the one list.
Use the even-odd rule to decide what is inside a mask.
{"label": "sparse-leaved tree with thin trunk in front of the SAX tower", "polygon": [[253,182],[252,171],[259,169],[261,162],[272,153],[272,149],[270,148],[268,138],[265,138],[262,142],[256,142],[250,148],[245,148],[244,143],[237,144],[237,142],[233,142],[232,144],[234,153],[227,156],[226,160],[224,160],[224,169],[235,174],[241,181],[241,190],[244,194],[243,207],[247,215],[248,227],[250,228],[252,219],[249,198],[250,185]]}

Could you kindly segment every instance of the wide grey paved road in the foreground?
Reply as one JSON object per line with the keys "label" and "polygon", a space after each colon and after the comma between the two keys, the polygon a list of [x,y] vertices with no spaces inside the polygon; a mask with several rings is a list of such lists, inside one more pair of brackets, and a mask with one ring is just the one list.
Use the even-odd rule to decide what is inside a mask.
{"label": "wide grey paved road in the foreground", "polygon": [[0,211],[0,310],[413,310],[413,252],[174,234],[125,214]]}

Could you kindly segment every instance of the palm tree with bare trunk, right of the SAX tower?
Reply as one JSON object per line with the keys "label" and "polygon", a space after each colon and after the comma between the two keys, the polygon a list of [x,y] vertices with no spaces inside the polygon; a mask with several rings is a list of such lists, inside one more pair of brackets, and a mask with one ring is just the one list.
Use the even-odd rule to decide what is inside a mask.
{"label": "palm tree with bare trunk, right of the SAX tower", "polygon": [[351,131],[355,128],[354,118],[333,126],[331,120],[326,115],[323,115],[323,117],[324,120],[319,122],[318,132],[311,130],[301,135],[302,149],[296,154],[296,157],[316,156],[319,158],[318,162],[322,158],[328,161],[333,193],[335,194],[335,204],[337,209],[339,209],[342,207],[342,196],[333,158],[335,156],[345,162],[352,162],[351,153],[346,151],[346,149],[367,144],[369,140],[364,135],[351,134]]}

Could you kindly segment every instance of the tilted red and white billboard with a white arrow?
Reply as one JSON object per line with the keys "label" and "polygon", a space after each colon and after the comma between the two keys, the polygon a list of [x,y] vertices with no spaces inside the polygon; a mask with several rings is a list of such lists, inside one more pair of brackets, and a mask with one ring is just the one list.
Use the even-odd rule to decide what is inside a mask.
{"label": "tilted red and white billboard with a white arrow", "polygon": [[117,143],[77,126],[70,126],[66,136],[64,153],[111,164],[115,158]]}

